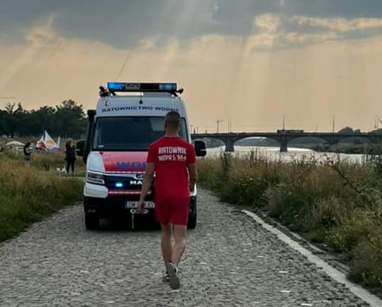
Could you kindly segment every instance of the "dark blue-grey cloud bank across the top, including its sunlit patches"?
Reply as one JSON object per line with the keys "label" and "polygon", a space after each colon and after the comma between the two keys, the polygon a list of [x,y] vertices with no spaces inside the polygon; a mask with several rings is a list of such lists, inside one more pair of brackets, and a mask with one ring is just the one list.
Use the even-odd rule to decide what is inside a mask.
{"label": "dark blue-grey cloud bank across the top, including its sunlit patches", "polygon": [[57,37],[120,50],[166,50],[174,43],[186,49],[198,38],[220,35],[237,38],[245,52],[269,52],[381,35],[382,1],[363,2],[2,0],[0,41],[30,50],[59,46]]}

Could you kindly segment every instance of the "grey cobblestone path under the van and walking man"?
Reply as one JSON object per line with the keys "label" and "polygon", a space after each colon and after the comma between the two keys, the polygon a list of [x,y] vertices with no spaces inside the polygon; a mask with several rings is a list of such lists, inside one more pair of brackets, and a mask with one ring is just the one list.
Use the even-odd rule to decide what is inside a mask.
{"label": "grey cobblestone path under the van and walking man", "polygon": [[160,279],[159,231],[89,232],[72,206],[0,245],[0,306],[382,306],[208,191],[198,203],[181,289]]}

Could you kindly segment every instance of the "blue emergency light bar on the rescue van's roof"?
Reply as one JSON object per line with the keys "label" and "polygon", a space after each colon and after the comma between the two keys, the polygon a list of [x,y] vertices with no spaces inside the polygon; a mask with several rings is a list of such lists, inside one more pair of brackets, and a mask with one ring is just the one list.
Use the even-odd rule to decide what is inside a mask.
{"label": "blue emergency light bar on the rescue van's roof", "polygon": [[176,92],[176,83],[125,83],[108,82],[109,91],[167,91]]}

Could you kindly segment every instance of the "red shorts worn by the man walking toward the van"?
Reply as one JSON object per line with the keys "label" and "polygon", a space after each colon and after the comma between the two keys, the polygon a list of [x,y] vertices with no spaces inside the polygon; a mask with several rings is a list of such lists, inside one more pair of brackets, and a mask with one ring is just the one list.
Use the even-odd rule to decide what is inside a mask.
{"label": "red shorts worn by the man walking toward the van", "polygon": [[155,196],[155,218],[161,224],[187,225],[190,198],[169,198]]}

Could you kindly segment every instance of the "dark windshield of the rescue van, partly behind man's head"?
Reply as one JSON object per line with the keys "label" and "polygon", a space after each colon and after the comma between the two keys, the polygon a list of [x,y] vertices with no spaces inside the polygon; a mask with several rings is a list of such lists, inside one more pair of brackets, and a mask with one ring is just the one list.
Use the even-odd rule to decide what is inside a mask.
{"label": "dark windshield of the rescue van, partly behind man's head", "polygon": [[[97,118],[94,150],[145,151],[164,135],[164,117],[103,117]],[[181,118],[179,135],[187,140],[186,120]]]}

